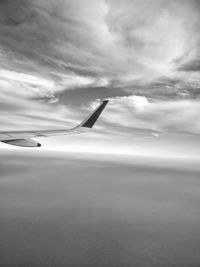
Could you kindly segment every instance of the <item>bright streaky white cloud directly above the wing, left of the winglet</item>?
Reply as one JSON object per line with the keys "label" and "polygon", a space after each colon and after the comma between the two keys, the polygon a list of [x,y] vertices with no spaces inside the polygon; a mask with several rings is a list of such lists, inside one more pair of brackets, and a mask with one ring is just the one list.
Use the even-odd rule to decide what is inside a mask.
{"label": "bright streaky white cloud directly above the wing, left of the winglet", "polygon": [[[66,106],[53,104],[54,96],[50,89],[49,92],[45,90],[45,80],[30,79],[26,75],[15,79],[17,73],[0,73],[1,131],[67,128],[72,125],[70,120],[76,122],[75,112]],[[50,103],[36,101],[34,98],[38,95],[49,97]]]}

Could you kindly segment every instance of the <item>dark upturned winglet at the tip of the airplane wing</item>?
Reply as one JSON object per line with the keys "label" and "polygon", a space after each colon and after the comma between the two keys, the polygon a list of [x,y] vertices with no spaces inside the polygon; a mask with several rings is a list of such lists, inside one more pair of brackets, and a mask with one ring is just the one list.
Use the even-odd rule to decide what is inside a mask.
{"label": "dark upturned winglet at the tip of the airplane wing", "polygon": [[92,112],[92,114],[90,114],[89,117],[80,124],[80,127],[92,128],[108,102],[109,100],[103,100],[102,103]]}

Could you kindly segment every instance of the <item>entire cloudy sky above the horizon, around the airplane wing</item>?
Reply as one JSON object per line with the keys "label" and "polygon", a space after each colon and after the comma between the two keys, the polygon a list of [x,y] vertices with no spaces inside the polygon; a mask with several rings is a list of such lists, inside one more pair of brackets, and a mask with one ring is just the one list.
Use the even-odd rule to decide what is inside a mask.
{"label": "entire cloudy sky above the horizon, around the airplane wing", "polygon": [[44,149],[199,157],[199,24],[198,0],[0,1],[0,130],[70,128],[110,99]]}

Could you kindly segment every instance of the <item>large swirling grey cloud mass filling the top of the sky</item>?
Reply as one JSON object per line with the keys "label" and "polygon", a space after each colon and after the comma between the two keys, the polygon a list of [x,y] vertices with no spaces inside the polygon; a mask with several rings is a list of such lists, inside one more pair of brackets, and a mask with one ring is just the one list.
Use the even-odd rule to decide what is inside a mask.
{"label": "large swirling grey cloud mass filling the top of the sky", "polygon": [[194,1],[20,0],[1,5],[2,45],[40,65],[42,72],[54,70],[60,79],[61,74],[70,80],[70,75],[88,72],[96,82],[149,83],[172,75],[173,61],[197,44]]}

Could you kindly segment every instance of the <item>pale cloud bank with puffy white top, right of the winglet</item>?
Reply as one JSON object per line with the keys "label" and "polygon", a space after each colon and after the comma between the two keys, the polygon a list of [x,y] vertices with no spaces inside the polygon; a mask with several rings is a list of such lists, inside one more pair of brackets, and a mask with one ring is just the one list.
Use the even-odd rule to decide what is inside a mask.
{"label": "pale cloud bank with puffy white top, right of the winglet", "polygon": [[116,128],[128,127],[130,135],[135,129],[148,130],[150,134],[200,134],[200,105],[196,100],[155,101],[131,96],[116,98],[110,105],[104,119]]}

